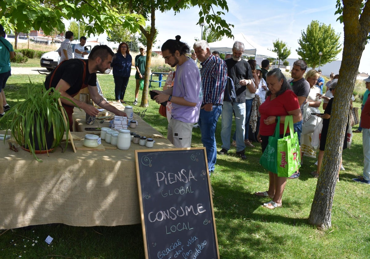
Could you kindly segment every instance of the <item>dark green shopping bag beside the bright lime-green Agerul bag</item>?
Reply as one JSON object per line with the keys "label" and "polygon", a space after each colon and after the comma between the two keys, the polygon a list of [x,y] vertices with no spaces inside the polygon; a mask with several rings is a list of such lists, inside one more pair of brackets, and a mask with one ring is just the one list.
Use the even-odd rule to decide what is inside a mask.
{"label": "dark green shopping bag beside the bright lime-green Agerul bag", "polygon": [[263,151],[262,157],[259,159],[259,163],[266,170],[277,173],[277,140],[280,138],[280,117],[277,117],[277,123],[273,136],[269,137],[269,144],[265,151]]}

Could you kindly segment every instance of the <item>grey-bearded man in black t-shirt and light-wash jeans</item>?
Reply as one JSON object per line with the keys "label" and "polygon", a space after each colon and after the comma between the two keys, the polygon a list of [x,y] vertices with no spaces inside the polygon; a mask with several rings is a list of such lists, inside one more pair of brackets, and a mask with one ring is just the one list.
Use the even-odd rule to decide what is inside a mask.
{"label": "grey-bearded man in black t-shirt and light-wash jeans", "polygon": [[252,69],[246,60],[242,59],[244,44],[235,41],[232,47],[232,58],[225,60],[228,67],[228,75],[234,82],[236,91],[235,102],[223,101],[221,112],[221,140],[222,146],[219,151],[220,155],[227,154],[230,149],[231,125],[233,112],[235,112],[236,124],[236,155],[242,159],[245,157],[245,96],[246,90],[256,92],[255,85],[252,81]]}

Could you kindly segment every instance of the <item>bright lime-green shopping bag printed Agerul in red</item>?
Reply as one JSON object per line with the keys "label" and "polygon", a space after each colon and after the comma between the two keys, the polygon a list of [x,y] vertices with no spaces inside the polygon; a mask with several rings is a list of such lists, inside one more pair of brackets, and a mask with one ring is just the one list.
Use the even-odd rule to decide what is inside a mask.
{"label": "bright lime-green shopping bag printed Agerul in red", "polygon": [[300,151],[297,132],[293,128],[293,116],[285,117],[284,135],[289,125],[289,135],[277,141],[277,176],[289,177],[300,168]]}

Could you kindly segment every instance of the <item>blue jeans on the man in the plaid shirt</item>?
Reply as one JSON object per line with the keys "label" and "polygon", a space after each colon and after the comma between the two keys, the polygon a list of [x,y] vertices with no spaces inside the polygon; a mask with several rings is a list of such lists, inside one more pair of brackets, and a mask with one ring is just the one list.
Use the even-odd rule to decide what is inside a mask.
{"label": "blue jeans on the man in the plaid shirt", "polygon": [[215,132],[221,111],[221,106],[212,106],[212,111],[201,109],[199,112],[198,125],[201,129],[203,147],[206,148],[209,172],[215,170],[217,156]]}

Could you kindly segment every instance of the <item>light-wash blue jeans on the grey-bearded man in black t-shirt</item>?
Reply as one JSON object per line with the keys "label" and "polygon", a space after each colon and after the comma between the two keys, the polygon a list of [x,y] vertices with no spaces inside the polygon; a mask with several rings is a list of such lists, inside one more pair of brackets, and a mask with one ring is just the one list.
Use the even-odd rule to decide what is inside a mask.
{"label": "light-wash blue jeans on the grey-bearded man in black t-shirt", "polygon": [[221,113],[221,147],[225,148],[226,150],[230,149],[233,111],[235,112],[236,125],[236,151],[239,152],[245,149],[245,102],[223,102]]}

